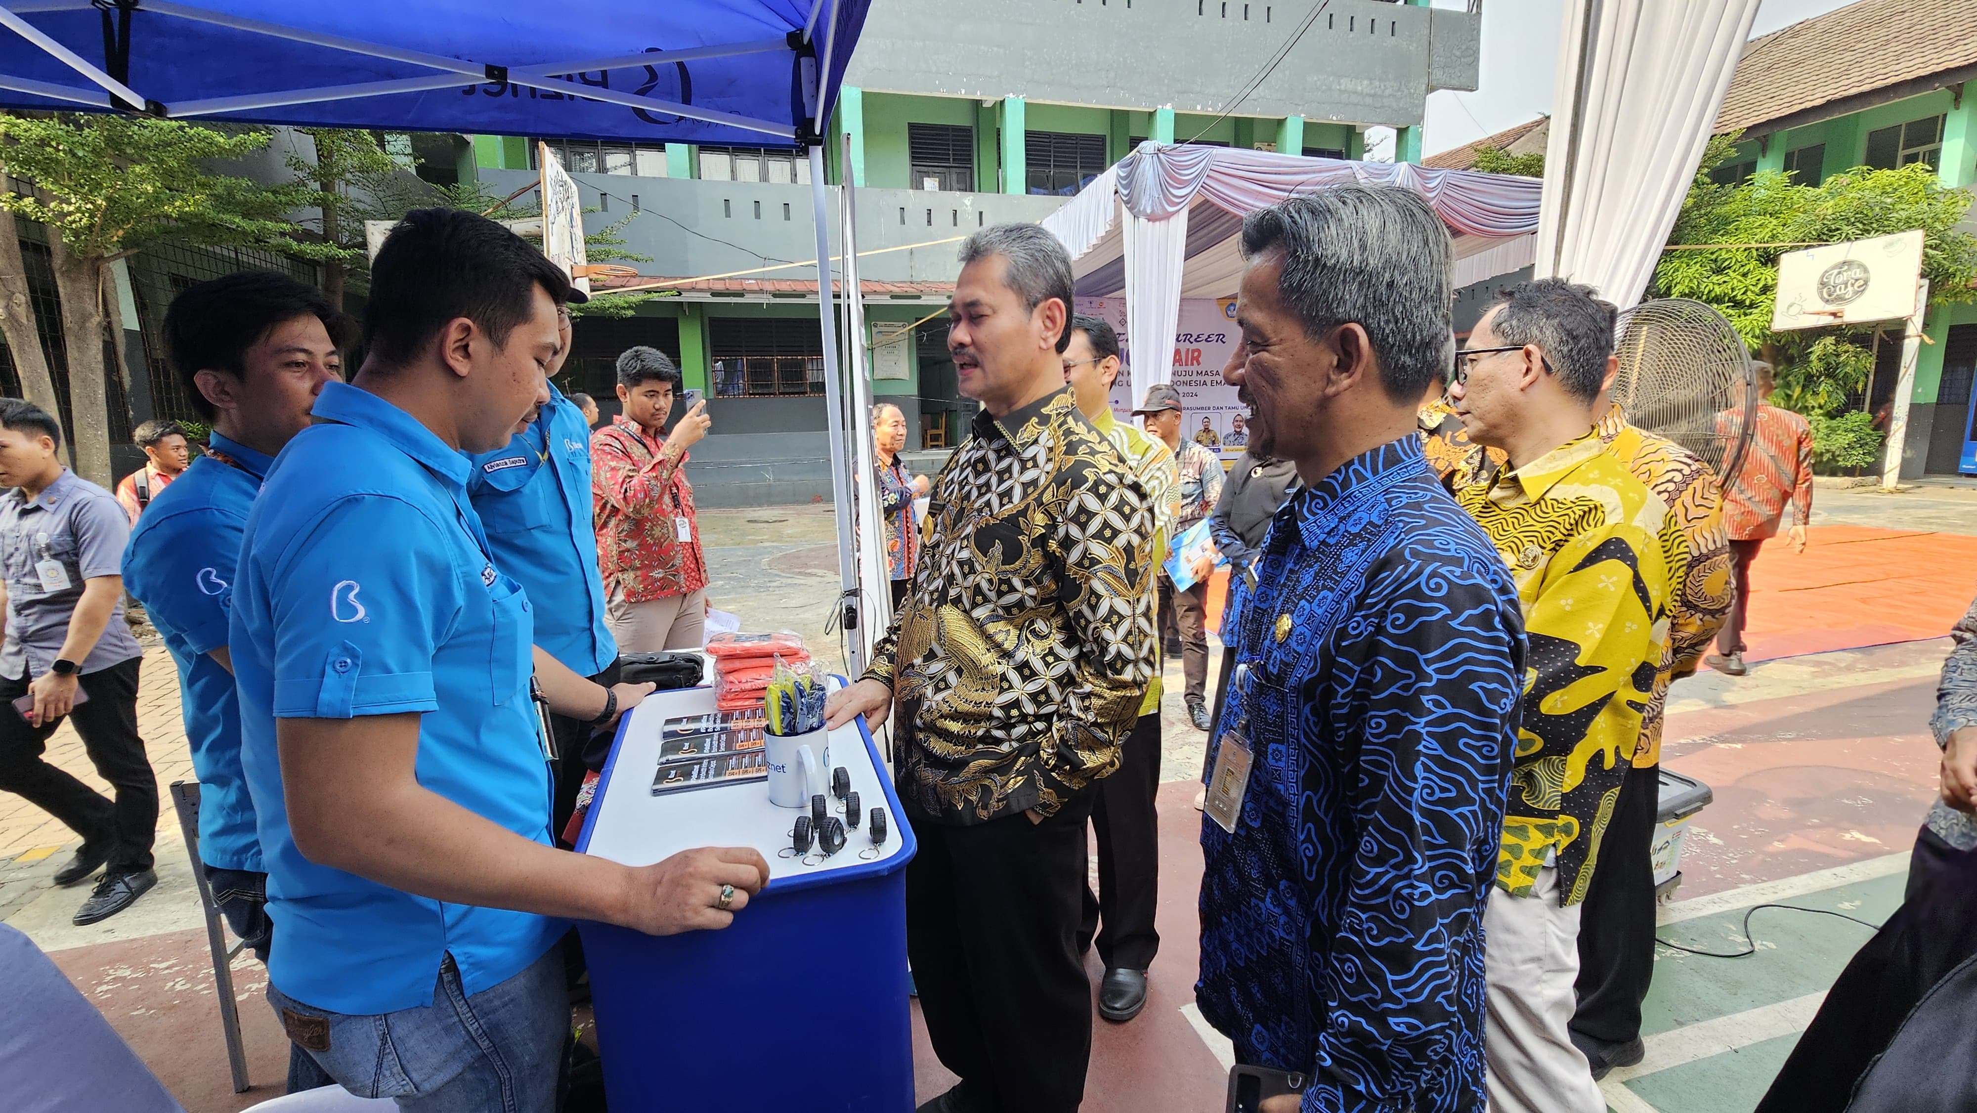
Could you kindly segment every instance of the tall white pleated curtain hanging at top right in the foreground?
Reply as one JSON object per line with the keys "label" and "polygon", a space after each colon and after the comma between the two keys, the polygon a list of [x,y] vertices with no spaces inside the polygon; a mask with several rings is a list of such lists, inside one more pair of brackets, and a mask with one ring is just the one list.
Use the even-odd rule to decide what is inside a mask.
{"label": "tall white pleated curtain hanging at top right in the foreground", "polygon": [[1641,300],[1756,16],[1758,0],[1566,0],[1538,277]]}

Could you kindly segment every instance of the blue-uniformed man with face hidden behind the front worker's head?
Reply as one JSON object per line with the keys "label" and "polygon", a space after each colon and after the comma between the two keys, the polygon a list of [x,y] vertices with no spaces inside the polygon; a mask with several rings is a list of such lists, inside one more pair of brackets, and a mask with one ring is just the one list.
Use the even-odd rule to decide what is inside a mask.
{"label": "blue-uniformed man with face hidden behind the front worker's head", "polygon": [[[558,310],[569,354],[569,310]],[[467,492],[494,550],[494,565],[528,591],[536,617],[536,650],[554,656],[593,684],[617,686],[617,639],[605,625],[605,585],[597,575],[597,534],[591,528],[591,427],[575,401],[550,384],[550,401],[506,447],[473,457]],[[575,811],[589,769],[603,769],[609,745],[591,731],[617,714],[621,700],[650,686],[619,688],[595,720],[552,714],[556,731],[556,805],[550,832],[561,834]],[[609,741],[609,735],[599,739]]]}

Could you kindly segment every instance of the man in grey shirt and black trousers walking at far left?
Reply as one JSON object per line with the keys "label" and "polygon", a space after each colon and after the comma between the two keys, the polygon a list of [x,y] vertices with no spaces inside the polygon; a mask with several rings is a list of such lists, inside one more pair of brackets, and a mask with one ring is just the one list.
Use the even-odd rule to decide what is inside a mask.
{"label": "man in grey shirt and black trousers walking at far left", "polygon": [[[83,836],[55,874],[73,886],[105,866],[75,913],[109,919],[144,896],[158,832],[158,781],[136,733],[144,650],[123,621],[123,550],[130,518],[101,486],[61,467],[61,425],[42,407],[0,397],[0,789]],[[28,710],[14,706],[26,700]],[[42,759],[61,718],[117,803]]]}

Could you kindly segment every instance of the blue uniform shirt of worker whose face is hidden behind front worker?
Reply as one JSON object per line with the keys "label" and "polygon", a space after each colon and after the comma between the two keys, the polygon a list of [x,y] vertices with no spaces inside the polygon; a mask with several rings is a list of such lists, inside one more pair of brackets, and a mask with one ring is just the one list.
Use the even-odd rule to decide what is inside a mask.
{"label": "blue uniform shirt of worker whose face is hidden behind front worker", "polygon": [[467,490],[494,550],[536,605],[536,644],[577,676],[617,660],[591,528],[591,429],[550,385],[550,405],[506,449],[473,457]]}

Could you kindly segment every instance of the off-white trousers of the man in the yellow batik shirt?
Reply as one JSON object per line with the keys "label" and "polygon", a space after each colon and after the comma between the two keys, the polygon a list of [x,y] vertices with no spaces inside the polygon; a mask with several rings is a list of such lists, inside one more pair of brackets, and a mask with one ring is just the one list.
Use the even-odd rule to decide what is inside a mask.
{"label": "off-white trousers of the man in the yellow batik shirt", "polygon": [[1605,1113],[1593,1068],[1572,1046],[1580,905],[1558,907],[1558,868],[1540,870],[1528,898],[1491,886],[1483,933],[1489,1111]]}

